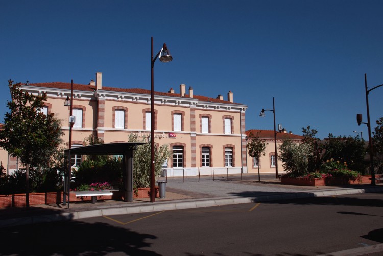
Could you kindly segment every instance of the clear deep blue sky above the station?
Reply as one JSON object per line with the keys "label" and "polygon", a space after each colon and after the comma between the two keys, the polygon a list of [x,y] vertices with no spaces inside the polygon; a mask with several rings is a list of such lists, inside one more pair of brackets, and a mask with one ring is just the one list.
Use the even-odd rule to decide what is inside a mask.
{"label": "clear deep blue sky above the station", "polygon": [[[151,37],[173,61],[156,61],[155,90],[192,86],[195,95],[231,90],[248,105],[246,129],[294,134],[310,125],[323,139],[356,136],[367,122],[368,87],[383,84],[381,0],[19,1],[0,0],[0,116],[15,82],[150,89]],[[372,127],[383,87],[369,94]]]}

